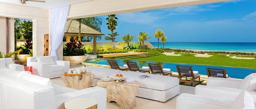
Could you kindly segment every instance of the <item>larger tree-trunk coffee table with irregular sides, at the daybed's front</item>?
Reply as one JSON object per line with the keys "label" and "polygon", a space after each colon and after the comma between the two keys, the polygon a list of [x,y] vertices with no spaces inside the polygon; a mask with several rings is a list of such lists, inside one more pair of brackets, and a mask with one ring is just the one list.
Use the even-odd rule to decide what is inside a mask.
{"label": "larger tree-trunk coffee table with irregular sides, at the daybed's front", "polygon": [[97,86],[107,89],[107,101],[115,101],[121,109],[130,109],[136,106],[139,82],[116,83],[114,81],[97,81]]}

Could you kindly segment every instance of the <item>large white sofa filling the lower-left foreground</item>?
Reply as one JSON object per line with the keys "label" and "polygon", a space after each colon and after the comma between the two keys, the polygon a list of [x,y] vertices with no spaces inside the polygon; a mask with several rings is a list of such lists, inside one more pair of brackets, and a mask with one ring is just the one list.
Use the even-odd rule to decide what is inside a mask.
{"label": "large white sofa filling the lower-left foreground", "polygon": [[[52,84],[50,79],[22,71],[1,69],[0,108],[56,109],[76,98],[92,98],[99,109],[106,109],[106,89],[92,87],[76,90]],[[85,102],[86,103],[86,102]]]}

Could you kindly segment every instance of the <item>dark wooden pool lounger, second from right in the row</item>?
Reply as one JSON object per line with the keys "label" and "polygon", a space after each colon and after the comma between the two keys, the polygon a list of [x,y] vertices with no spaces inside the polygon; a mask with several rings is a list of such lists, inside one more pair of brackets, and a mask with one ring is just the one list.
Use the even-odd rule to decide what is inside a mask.
{"label": "dark wooden pool lounger, second from right in the row", "polygon": [[195,79],[199,79],[200,82],[200,74],[194,74],[191,66],[176,66],[178,71],[178,78],[180,78],[180,82],[189,83],[190,86],[193,86],[193,81]]}

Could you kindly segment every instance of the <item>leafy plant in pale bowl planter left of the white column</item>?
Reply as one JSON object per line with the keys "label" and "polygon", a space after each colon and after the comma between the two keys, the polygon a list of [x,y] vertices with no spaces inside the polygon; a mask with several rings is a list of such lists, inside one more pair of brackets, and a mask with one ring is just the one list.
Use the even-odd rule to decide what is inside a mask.
{"label": "leafy plant in pale bowl planter left of the white column", "polygon": [[17,53],[17,59],[23,63],[26,63],[27,57],[33,56],[32,45],[33,43],[31,40],[26,40],[25,44],[21,44],[19,47],[17,47],[17,50],[20,50],[20,52]]}

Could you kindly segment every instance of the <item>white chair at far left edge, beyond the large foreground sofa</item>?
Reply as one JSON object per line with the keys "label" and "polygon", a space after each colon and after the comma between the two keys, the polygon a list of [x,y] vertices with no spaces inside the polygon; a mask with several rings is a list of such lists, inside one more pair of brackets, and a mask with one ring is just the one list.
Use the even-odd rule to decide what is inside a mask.
{"label": "white chair at far left edge, beyond the large foreground sofa", "polygon": [[11,58],[0,59],[0,69],[4,68],[20,71],[24,70],[24,66],[13,63],[13,59]]}

